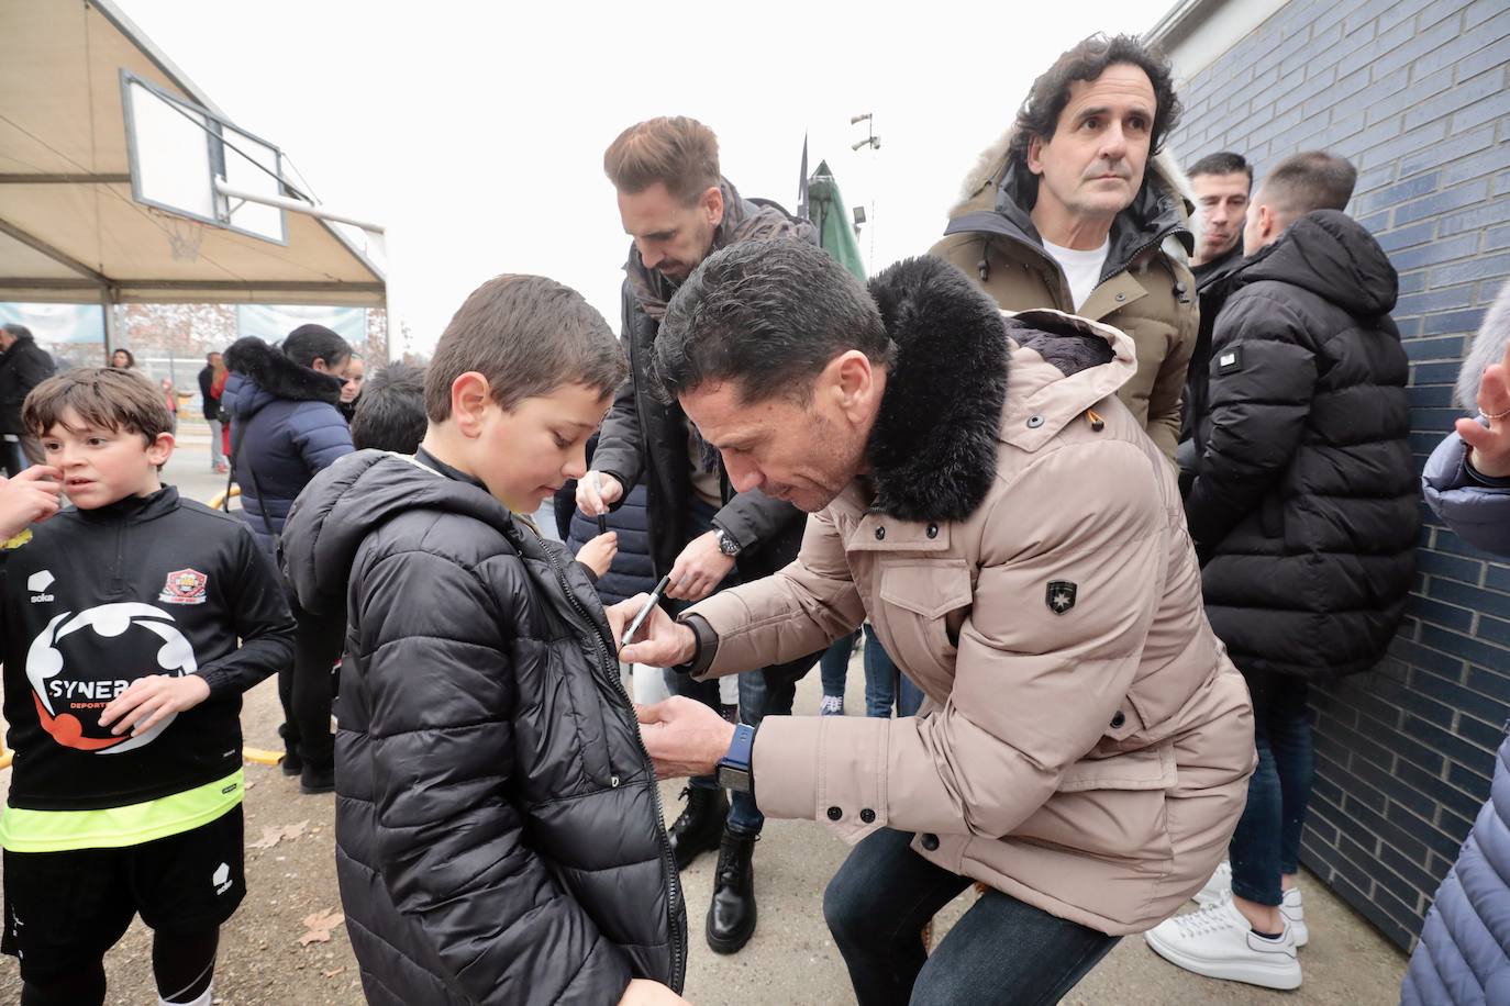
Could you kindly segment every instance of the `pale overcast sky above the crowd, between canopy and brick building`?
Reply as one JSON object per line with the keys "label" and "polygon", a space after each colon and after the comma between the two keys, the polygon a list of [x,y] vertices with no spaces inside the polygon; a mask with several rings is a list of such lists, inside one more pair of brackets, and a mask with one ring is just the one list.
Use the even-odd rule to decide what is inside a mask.
{"label": "pale overcast sky above the crowd, between canopy and brick building", "polygon": [[[883,267],[942,234],[975,154],[1033,77],[1172,0],[1065,3],[378,3],[118,0],[319,198],[388,226],[396,308],[427,350],[498,273],[580,290],[619,329],[628,238],[602,151],[690,115],[744,195],[796,207],[802,137],[873,223]],[[850,116],[870,112],[879,151]]]}

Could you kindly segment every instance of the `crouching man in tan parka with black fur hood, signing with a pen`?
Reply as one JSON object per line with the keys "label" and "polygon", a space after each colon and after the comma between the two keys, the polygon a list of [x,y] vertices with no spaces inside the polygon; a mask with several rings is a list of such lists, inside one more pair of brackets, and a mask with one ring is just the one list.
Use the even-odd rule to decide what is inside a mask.
{"label": "crouching man in tan parka with black fur hood, signing with a pen", "polygon": [[[1206,621],[1175,469],[1117,401],[1116,329],[1004,317],[932,256],[859,285],[821,249],[699,265],[651,365],[741,492],[808,511],[797,560],[621,659],[722,676],[867,618],[917,716],[642,709],[661,777],[707,772],[855,845],[824,916],[871,1003],[1048,1003],[1175,914],[1226,849],[1255,763],[1247,688]],[[645,596],[609,612],[616,633]],[[988,891],[932,955],[920,931]],[[986,994],[989,989],[989,994]]]}

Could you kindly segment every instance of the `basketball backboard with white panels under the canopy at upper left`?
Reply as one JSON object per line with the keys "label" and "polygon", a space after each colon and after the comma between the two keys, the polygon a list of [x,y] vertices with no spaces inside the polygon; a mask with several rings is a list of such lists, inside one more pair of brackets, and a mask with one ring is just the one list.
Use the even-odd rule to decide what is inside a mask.
{"label": "basketball backboard with white panels under the canopy at upper left", "polygon": [[281,208],[220,192],[287,198],[276,146],[124,69],[121,100],[137,202],[287,244]]}

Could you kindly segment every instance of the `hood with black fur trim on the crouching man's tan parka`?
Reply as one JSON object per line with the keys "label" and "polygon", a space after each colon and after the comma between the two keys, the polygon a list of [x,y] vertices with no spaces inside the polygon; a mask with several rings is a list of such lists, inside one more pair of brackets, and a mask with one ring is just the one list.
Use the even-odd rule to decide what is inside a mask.
{"label": "hood with black fur trim on the crouching man's tan parka", "polygon": [[912,258],[870,281],[894,345],[865,454],[873,507],[901,520],[963,520],[997,477],[1010,338],[1062,374],[1107,363],[1093,326],[1051,311],[1004,315],[941,258]]}

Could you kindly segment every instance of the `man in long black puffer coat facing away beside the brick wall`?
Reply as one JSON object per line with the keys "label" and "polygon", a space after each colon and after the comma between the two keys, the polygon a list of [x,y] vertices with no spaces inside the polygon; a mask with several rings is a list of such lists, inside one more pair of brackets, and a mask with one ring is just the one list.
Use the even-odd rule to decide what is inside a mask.
{"label": "man in long black puffer coat facing away beside the brick wall", "polygon": [[1311,680],[1367,671],[1404,614],[1421,529],[1398,279],[1341,210],[1357,172],[1280,161],[1247,207],[1247,256],[1213,290],[1210,400],[1185,499],[1206,617],[1253,695],[1258,771],[1194,916],[1148,932],[1182,968],[1297,988],[1315,754]]}

